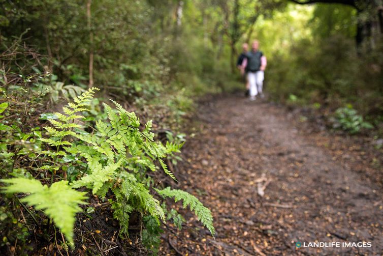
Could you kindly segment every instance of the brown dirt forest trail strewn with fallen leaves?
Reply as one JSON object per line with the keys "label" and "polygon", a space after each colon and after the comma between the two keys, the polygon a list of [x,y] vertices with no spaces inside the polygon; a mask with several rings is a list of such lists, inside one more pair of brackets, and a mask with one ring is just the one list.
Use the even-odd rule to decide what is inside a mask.
{"label": "brown dirt forest trail strewn with fallen leaves", "polygon": [[[200,105],[198,135],[183,150],[179,185],[211,209],[216,236],[206,239],[204,229],[191,232],[191,239],[191,229],[170,234],[170,246],[163,250],[189,255],[382,253],[381,185],[354,170],[353,152],[343,152],[338,161],[287,113],[238,96]],[[297,249],[297,241],[371,242],[372,247]]]}

